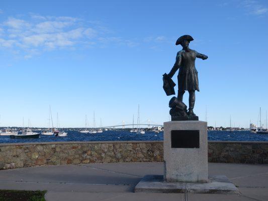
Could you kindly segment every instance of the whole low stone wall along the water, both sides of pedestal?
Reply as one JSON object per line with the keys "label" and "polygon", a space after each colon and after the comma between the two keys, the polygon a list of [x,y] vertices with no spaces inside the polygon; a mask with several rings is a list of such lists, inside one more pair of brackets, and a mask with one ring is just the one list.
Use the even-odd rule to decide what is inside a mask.
{"label": "whole low stone wall along the water, both sides of pedestal", "polygon": [[[268,142],[211,141],[209,162],[268,164]],[[163,161],[162,141],[0,144],[0,169],[80,163]]]}

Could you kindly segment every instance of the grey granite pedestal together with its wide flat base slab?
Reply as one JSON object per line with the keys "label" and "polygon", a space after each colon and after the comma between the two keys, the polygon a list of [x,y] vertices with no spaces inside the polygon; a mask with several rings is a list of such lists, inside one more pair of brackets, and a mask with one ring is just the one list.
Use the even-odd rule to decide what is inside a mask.
{"label": "grey granite pedestal together with its wide flat base slab", "polygon": [[224,175],[208,177],[207,122],[164,123],[164,174],[145,175],[135,192],[238,193]]}

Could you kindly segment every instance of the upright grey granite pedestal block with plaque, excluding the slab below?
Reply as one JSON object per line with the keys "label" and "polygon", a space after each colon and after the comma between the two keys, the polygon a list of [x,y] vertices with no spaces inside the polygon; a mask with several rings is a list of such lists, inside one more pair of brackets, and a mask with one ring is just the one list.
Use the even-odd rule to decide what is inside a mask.
{"label": "upright grey granite pedestal block with plaque, excluding the slab below", "polygon": [[164,123],[164,181],[208,182],[207,122]]}

